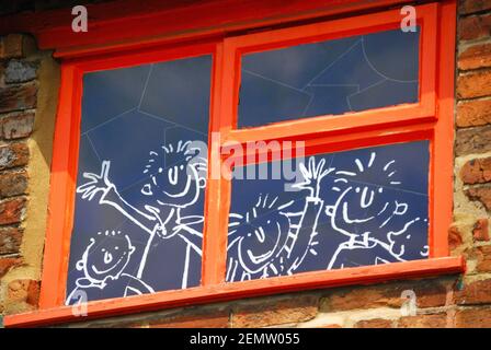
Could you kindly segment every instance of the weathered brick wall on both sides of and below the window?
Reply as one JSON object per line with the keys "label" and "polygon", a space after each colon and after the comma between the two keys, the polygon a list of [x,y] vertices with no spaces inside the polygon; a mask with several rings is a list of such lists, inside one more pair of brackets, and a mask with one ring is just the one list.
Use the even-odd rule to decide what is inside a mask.
{"label": "weathered brick wall on both sides of and below the window", "polygon": [[[465,276],[288,293],[72,324],[77,327],[491,327],[491,0],[459,4],[452,254],[465,255]],[[0,44],[0,311],[35,307],[35,279],[2,276],[25,264],[20,246],[30,226],[26,138],[36,91],[46,82],[22,52],[22,37]],[[34,136],[38,132],[34,132]],[[9,271],[10,269],[10,271]],[[8,272],[9,271],[9,272]],[[18,275],[18,277],[22,277]],[[418,312],[402,316],[412,290]],[[12,305],[16,305],[15,307]]]}

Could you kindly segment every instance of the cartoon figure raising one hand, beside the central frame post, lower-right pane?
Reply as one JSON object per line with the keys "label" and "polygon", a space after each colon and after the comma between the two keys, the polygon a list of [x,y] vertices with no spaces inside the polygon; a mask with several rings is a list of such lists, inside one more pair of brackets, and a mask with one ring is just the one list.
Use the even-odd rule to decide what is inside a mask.
{"label": "cartoon figure raising one hand, beside the central frame post, lower-right pane", "polygon": [[243,281],[281,275],[293,275],[306,256],[315,254],[317,221],[323,208],[320,182],[333,170],[326,161],[308,168],[299,164],[302,182],[293,185],[309,190],[301,212],[290,212],[293,201],[278,203],[278,198],[260,195],[246,213],[229,215],[227,281]]}

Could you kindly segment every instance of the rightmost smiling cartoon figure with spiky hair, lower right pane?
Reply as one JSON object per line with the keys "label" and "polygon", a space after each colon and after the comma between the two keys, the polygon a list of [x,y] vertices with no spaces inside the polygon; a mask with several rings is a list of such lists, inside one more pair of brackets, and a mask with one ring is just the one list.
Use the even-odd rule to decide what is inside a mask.
{"label": "rightmost smiling cartoon figure with spiky hair, lower right pane", "polygon": [[[326,214],[331,226],[347,241],[338,247],[328,269],[404,261],[408,231],[415,224],[427,225],[427,220],[420,217],[408,218],[408,203],[385,196],[390,187],[401,184],[393,177],[395,163],[392,160],[378,165],[377,154],[372,152],[366,163],[355,160],[354,171],[335,172],[339,177],[332,190],[338,197],[333,206],[326,208]],[[365,184],[358,178],[367,172],[382,184]]]}

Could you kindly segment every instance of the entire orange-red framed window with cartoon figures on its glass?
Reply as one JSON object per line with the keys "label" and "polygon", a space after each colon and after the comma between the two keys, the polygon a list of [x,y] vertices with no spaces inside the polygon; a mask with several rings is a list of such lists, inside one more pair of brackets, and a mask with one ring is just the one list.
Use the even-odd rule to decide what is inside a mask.
{"label": "entire orange-red framed window with cartoon figures on its glass", "polygon": [[9,322],[460,271],[452,11],[64,62],[42,308]]}

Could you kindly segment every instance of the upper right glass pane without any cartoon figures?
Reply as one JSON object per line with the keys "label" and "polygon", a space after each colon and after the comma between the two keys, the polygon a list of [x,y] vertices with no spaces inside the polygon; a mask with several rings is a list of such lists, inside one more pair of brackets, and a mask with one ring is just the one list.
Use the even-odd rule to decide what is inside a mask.
{"label": "upper right glass pane without any cartoon figures", "polygon": [[239,128],[418,102],[420,31],[244,55]]}

